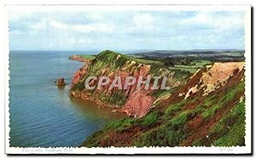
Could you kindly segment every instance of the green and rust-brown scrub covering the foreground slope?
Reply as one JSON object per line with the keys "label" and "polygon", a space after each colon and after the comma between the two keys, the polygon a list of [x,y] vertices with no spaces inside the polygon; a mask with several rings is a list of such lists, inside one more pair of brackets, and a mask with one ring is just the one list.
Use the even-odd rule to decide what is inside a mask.
{"label": "green and rust-brown scrub covering the foreground slope", "polygon": [[[212,94],[207,97],[197,96],[195,99],[181,100],[160,110],[156,107],[141,119],[124,118],[111,122],[102,129],[101,135],[115,132],[114,135],[121,138],[122,134],[133,133],[132,137],[123,139],[124,142],[122,143],[112,143],[115,146],[177,146],[183,145],[187,142],[189,136],[196,136],[197,133],[205,135],[199,135],[199,137],[192,140],[190,145],[244,145],[245,100],[242,96],[237,99],[237,95],[244,91],[243,86],[244,81],[240,81],[238,85],[223,90],[228,92],[223,97]],[[201,99],[204,99],[204,102],[199,102],[194,109],[185,109],[186,105],[194,105],[195,102],[201,101]],[[212,121],[214,117],[219,116],[219,113],[227,109],[229,107],[227,102],[229,101],[236,102],[236,105],[227,114],[223,114],[215,124],[207,122]],[[197,118],[196,116],[202,116],[202,118],[200,121],[193,123],[192,121]],[[204,122],[206,122],[205,127],[208,127],[207,123],[212,124],[208,133],[204,133],[204,131],[207,131],[204,129],[204,125],[202,125],[202,130],[193,129],[195,126],[188,125],[192,123],[197,125]],[[96,141],[101,139],[102,137],[98,135],[86,139],[84,146],[96,146]]]}

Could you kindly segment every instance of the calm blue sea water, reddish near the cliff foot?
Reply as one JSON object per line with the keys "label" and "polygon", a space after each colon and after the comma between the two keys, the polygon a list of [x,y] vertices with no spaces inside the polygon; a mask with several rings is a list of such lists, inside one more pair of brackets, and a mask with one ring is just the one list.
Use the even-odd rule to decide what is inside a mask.
{"label": "calm blue sea water, reddish near the cliff foot", "polygon": [[10,53],[11,146],[78,146],[107,122],[121,117],[91,102],[72,101],[70,85],[55,86],[57,77],[70,83],[74,71],[83,65],[67,60],[71,54],[79,53]]}

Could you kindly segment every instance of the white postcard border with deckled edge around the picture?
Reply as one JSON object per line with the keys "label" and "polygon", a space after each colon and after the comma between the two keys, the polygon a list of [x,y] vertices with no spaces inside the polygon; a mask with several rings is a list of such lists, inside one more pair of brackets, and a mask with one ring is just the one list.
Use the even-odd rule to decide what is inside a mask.
{"label": "white postcard border with deckled edge around the picture", "polygon": [[5,153],[7,154],[250,154],[252,153],[252,64],[251,64],[251,6],[250,5],[118,5],[118,9],[143,10],[244,10],[246,43],[246,146],[235,147],[124,147],[124,148],[16,148],[9,147],[9,9],[112,9],[117,5],[7,5],[3,9],[3,58],[5,65]]}

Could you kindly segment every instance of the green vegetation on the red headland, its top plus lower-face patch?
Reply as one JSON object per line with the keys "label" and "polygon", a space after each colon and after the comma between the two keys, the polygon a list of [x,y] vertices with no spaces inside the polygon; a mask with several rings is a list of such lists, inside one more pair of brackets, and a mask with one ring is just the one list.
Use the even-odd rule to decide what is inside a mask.
{"label": "green vegetation on the red headland, its top plus lower-face patch", "polygon": [[[122,70],[131,73],[137,71],[138,65],[145,64],[150,65],[149,74],[151,76],[168,76],[173,74],[173,80],[178,82],[182,81],[183,78],[189,77],[189,72],[187,71],[170,71],[168,67],[163,68],[163,62],[161,60],[147,60],[147,59],[140,59],[134,58],[131,56],[127,56],[125,54],[119,54],[117,52],[113,52],[110,50],[102,51],[100,54],[97,55],[82,55],[85,59],[90,59],[91,64],[88,72],[84,75],[84,77],[77,83],[71,91],[73,90],[83,90],[84,89],[84,81],[87,77],[90,76],[111,76],[111,74],[115,71],[118,71],[119,68],[122,67]],[[127,67],[127,68],[126,68]],[[103,103],[107,103],[110,105],[115,105],[121,107],[125,104],[127,97],[125,96],[125,91],[118,91],[113,92],[113,94],[98,94],[96,89],[89,90],[92,96],[100,99]],[[154,91],[154,94],[158,94],[160,90]],[[98,96],[98,97],[97,97]]]}

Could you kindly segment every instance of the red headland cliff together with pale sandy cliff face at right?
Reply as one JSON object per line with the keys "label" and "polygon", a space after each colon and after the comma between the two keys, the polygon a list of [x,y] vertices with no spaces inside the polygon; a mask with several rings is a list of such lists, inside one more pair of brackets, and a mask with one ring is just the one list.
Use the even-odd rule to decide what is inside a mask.
{"label": "red headland cliff together with pale sandy cliff face at right", "polygon": [[[119,112],[127,116],[141,118],[157,105],[166,105],[166,101],[177,99],[189,99],[190,96],[201,94],[207,96],[218,88],[224,87],[230,77],[236,76],[244,67],[244,62],[214,63],[202,67],[195,74],[185,71],[170,71],[163,66],[143,64],[123,54],[104,51],[94,60],[86,61],[84,66],[76,71],[72,80],[70,96],[74,98],[92,100],[98,105],[116,107]],[[183,75],[183,76],[181,76]],[[86,90],[84,81],[86,77],[109,77],[107,85],[102,88]],[[167,77],[167,85],[171,90],[144,89],[145,84],[137,89],[139,77],[145,80],[151,77]],[[115,77],[120,77],[121,88],[125,87],[126,77],[135,77],[136,83],[127,89],[109,89]],[[97,80],[91,80],[90,86],[96,86]],[[150,82],[150,86],[152,86]],[[178,88],[175,90],[175,88]],[[173,90],[175,90],[173,92]],[[191,106],[191,105],[190,105]]]}

